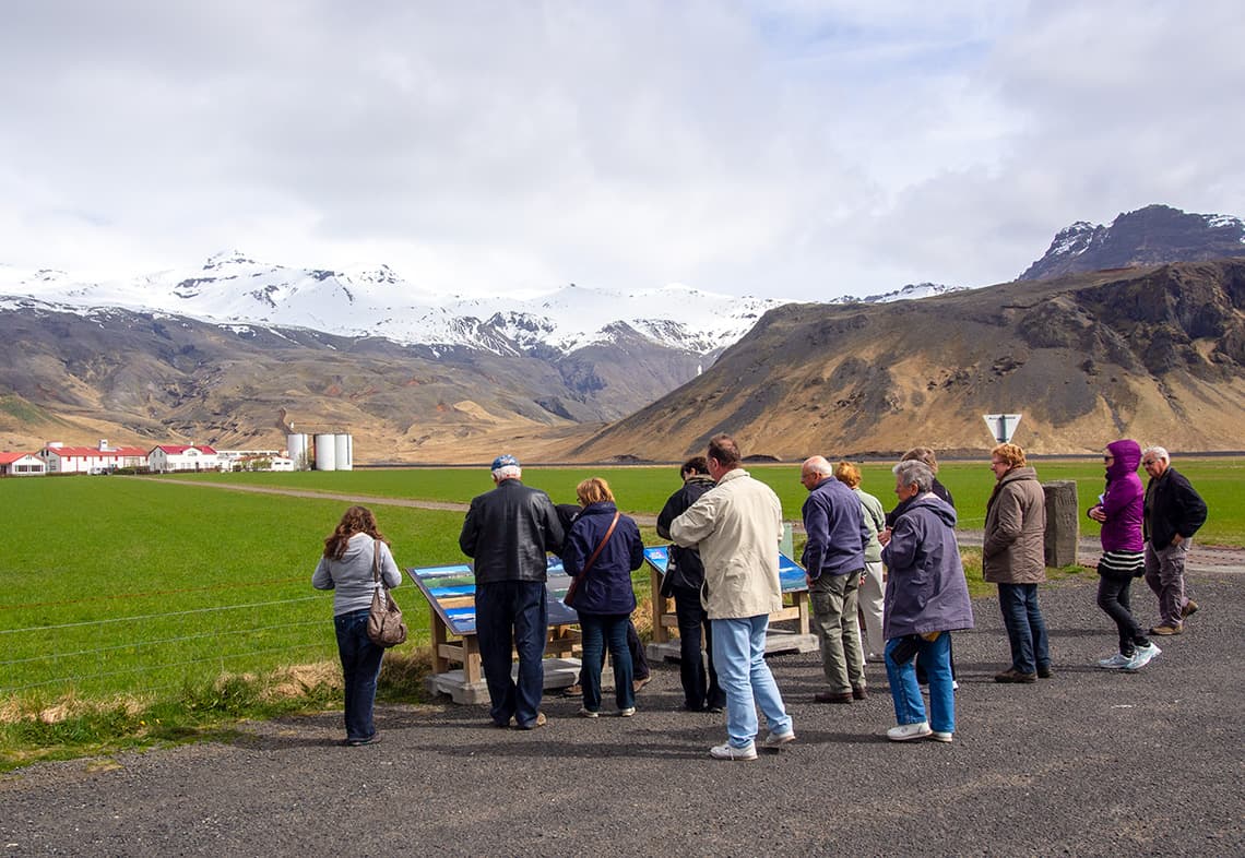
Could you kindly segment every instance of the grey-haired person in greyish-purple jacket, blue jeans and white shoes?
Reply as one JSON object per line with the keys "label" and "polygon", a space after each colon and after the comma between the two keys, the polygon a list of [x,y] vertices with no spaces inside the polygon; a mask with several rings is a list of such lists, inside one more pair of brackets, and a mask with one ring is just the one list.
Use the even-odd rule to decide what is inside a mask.
{"label": "grey-haired person in greyish-purple jacket, blue jeans and white shoes", "polygon": [[[886,579],[886,677],[899,724],[886,738],[903,742],[929,736],[950,742],[955,733],[951,631],[972,628],[972,603],[955,540],[955,509],[931,491],[934,473],[924,462],[894,468],[900,513],[881,550]],[[915,656],[930,680],[930,711],[916,684]]]}

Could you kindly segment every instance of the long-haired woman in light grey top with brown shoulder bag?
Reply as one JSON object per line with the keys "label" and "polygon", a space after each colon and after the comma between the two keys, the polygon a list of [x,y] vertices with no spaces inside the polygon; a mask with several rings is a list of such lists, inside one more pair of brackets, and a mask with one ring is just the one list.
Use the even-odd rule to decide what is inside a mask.
{"label": "long-haired woman in light grey top with brown shoulder bag", "polygon": [[402,583],[388,542],[376,528],[367,507],[351,507],[337,528],[324,540],[324,554],[311,575],[311,587],[334,590],[332,624],[337,631],[337,654],[345,679],[346,745],[381,741],[372,721],[376,677],[381,672],[383,648],[367,636],[367,613],[372,594],[381,584],[372,580],[372,564],[390,587]]}

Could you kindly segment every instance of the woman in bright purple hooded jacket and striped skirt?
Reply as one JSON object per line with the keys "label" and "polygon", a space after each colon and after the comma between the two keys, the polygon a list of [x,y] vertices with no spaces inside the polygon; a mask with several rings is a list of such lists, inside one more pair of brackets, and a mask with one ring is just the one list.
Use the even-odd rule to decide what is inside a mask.
{"label": "woman in bright purple hooded jacket and striped skirt", "polygon": [[1142,507],[1145,489],[1137,476],[1142,446],[1132,438],[1112,441],[1103,451],[1107,489],[1086,513],[1102,524],[1102,560],[1098,562],[1098,606],[1119,629],[1119,651],[1102,659],[1099,667],[1138,670],[1159,654],[1133,619],[1128,590],[1144,570]]}

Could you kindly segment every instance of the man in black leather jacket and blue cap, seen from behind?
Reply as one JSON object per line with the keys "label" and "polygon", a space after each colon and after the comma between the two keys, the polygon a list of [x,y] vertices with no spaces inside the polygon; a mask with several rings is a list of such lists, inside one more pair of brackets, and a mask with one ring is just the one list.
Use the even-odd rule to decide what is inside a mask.
{"label": "man in black leather jacket and blue cap, seen from behind", "polygon": [[[498,727],[534,730],[545,722],[544,646],[548,552],[561,550],[564,533],[549,496],[520,482],[510,455],[493,460],[497,488],[472,498],[458,547],[476,560],[476,636],[481,666]],[[510,679],[510,650],[519,654],[518,685]]]}

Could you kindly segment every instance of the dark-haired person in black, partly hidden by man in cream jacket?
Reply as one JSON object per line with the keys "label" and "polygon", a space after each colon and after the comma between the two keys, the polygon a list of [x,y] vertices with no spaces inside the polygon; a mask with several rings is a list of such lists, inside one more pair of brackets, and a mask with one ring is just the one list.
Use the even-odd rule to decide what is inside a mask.
{"label": "dark-haired person in black, partly hidden by man in cream jacket", "polygon": [[[670,523],[687,512],[700,497],[713,488],[708,462],[692,456],[679,468],[684,484],[670,496],[657,516],[657,535],[670,539]],[[726,707],[726,691],[717,684],[713,669],[713,626],[700,600],[705,584],[705,564],[700,552],[682,545],[670,547],[670,565],[661,579],[661,595],[674,598],[679,620],[679,679],[684,686],[684,709],[688,712],[721,712]],[[708,653],[708,670],[701,653],[701,638]]]}

